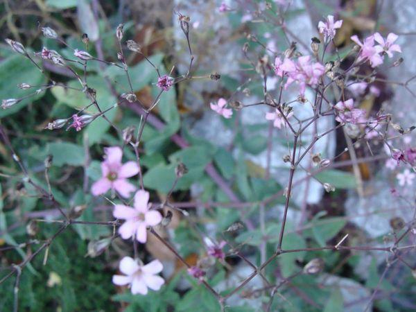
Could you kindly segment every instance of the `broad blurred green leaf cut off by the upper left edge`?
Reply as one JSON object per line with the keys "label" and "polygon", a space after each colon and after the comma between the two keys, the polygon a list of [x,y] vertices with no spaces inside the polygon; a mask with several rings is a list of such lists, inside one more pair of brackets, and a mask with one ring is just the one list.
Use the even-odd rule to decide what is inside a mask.
{"label": "broad blurred green leaf cut off by the upper left edge", "polygon": [[[0,62],[0,100],[7,98],[21,98],[35,92],[35,89],[22,90],[17,87],[20,83],[29,85],[42,85],[44,76],[39,69],[23,55],[11,55]],[[42,97],[44,92],[35,94],[23,101],[13,105],[7,110],[0,110],[0,118],[14,114],[37,98]]]}

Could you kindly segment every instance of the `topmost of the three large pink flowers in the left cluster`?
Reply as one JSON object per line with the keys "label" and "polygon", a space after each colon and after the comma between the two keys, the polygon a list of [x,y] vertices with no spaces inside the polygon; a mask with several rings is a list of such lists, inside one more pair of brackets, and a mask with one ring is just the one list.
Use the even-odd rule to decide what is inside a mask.
{"label": "topmost of the three large pink flowers in the left cluster", "polygon": [[115,190],[121,196],[127,198],[135,186],[128,182],[127,178],[139,173],[136,162],[121,164],[123,151],[118,146],[105,148],[105,160],[101,163],[103,177],[92,184],[92,195],[98,196],[106,193],[109,189]]}

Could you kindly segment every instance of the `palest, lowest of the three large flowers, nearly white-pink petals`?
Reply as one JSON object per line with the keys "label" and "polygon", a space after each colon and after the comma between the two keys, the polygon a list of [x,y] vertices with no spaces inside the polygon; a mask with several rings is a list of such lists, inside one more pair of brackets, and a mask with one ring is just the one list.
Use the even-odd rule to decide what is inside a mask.
{"label": "palest, lowest of the three large flowers, nearly white-pink petals", "polygon": [[164,279],[157,275],[162,270],[163,265],[159,260],[143,266],[130,257],[124,257],[120,261],[120,271],[124,275],[113,275],[112,282],[119,286],[128,285],[133,295],[146,295],[148,288],[159,291],[164,284]]}

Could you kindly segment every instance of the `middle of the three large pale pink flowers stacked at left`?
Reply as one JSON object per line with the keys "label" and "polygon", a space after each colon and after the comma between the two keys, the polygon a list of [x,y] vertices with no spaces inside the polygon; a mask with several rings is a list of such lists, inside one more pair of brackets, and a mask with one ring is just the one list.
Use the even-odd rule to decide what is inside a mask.
{"label": "middle of the three large pale pink flowers stacked at left", "polygon": [[129,239],[136,236],[137,241],[146,243],[146,227],[153,227],[162,221],[159,211],[149,210],[152,206],[149,203],[149,193],[140,189],[135,194],[134,208],[125,205],[114,207],[114,218],[124,219],[125,223],[119,227],[119,234],[122,239]]}

